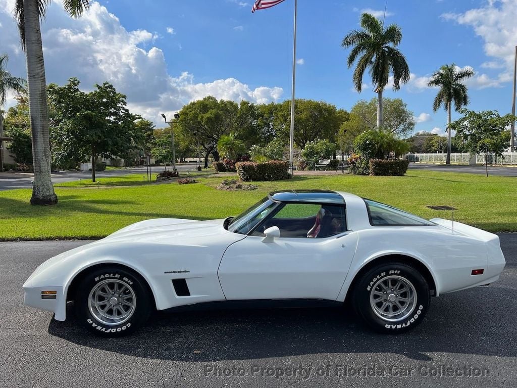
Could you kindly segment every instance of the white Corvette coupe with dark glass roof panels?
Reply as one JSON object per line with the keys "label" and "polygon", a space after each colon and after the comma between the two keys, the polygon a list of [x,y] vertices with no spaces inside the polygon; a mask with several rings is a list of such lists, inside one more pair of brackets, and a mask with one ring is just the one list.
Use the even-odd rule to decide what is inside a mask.
{"label": "white Corvette coupe with dark glass roof panels", "polygon": [[374,330],[420,323],[430,297],[497,280],[495,234],[425,220],[352,194],[273,192],[237,217],[151,219],[41,264],[25,304],[105,336],[142,326],[152,310],[248,301],[352,302]]}

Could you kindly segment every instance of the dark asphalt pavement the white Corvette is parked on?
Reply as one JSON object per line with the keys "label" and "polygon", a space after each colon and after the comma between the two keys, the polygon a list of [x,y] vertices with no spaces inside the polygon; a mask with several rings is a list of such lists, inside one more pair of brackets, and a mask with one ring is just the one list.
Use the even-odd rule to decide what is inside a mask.
{"label": "dark asphalt pavement the white Corvette is parked on", "polygon": [[517,387],[517,234],[500,237],[499,281],[433,298],[399,336],[317,308],[158,313],[130,337],[100,339],[72,314],[57,322],[22,304],[39,263],[86,242],[0,243],[0,387]]}

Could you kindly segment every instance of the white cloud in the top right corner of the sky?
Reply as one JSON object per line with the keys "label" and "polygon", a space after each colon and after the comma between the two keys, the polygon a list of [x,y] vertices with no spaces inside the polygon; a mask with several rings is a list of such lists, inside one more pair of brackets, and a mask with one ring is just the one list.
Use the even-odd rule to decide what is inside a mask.
{"label": "white cloud in the top right corner of the sky", "polygon": [[[478,87],[501,86],[512,80],[515,42],[517,42],[517,0],[489,0],[480,8],[464,13],[444,13],[442,18],[470,26],[484,42],[484,52],[495,61],[485,62],[484,68],[504,68],[497,78],[480,74]],[[472,82],[472,81],[471,81]]]}

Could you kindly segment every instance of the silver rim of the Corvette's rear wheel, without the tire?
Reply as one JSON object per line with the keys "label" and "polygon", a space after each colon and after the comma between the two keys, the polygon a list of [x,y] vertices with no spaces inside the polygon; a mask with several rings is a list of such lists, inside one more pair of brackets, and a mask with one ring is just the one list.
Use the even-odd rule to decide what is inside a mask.
{"label": "silver rim of the Corvette's rear wheel, without the tire", "polygon": [[387,322],[398,322],[409,317],[417,304],[417,293],[412,283],[397,275],[378,280],[370,291],[370,306],[375,315]]}

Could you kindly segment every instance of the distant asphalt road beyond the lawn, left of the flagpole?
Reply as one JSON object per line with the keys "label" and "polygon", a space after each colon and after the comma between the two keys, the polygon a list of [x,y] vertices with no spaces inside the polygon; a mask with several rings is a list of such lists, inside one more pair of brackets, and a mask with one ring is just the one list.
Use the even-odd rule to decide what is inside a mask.
{"label": "distant asphalt road beyond the lawn, left of the flagpole", "polygon": [[[176,165],[178,171],[194,171],[196,168],[195,163],[190,165]],[[164,167],[151,167],[151,172],[158,173],[163,171]],[[168,166],[167,169],[172,169]],[[111,176],[123,176],[127,174],[146,174],[145,167],[134,167],[132,169],[117,169],[110,171],[99,171],[95,174],[98,179]],[[34,174],[23,173],[23,172],[6,172],[0,173],[0,191],[12,190],[12,189],[26,189],[32,188],[32,181]],[[52,183],[61,183],[69,181],[78,181],[80,179],[92,179],[91,171],[62,171],[52,174]]]}

